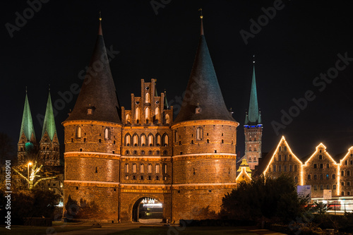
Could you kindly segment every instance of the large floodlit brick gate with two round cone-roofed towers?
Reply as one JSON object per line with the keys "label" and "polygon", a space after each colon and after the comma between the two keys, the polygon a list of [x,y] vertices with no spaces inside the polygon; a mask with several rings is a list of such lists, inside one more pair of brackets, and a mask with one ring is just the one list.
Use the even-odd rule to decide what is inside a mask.
{"label": "large floodlit brick gate with two round cone-roofed towers", "polygon": [[163,205],[164,221],[215,217],[222,197],[237,184],[239,123],[225,106],[202,21],[175,120],[154,79],[141,80],[141,95],[131,95],[130,110],[119,107],[101,25],[90,68],[97,65],[100,70],[86,75],[63,123],[64,202],[71,197],[96,203],[99,212],[92,219],[113,222],[138,220],[146,201]]}

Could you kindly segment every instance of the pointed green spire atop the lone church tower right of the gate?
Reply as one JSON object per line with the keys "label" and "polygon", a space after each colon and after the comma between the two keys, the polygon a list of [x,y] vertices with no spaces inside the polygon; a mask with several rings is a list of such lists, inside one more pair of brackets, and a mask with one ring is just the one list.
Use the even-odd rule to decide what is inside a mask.
{"label": "pointed green spire atop the lone church tower right of the gate", "polygon": [[255,61],[253,61],[253,79],[251,81],[249,112],[247,117],[245,125],[257,125],[261,123],[261,117],[258,112],[258,95],[256,92]]}

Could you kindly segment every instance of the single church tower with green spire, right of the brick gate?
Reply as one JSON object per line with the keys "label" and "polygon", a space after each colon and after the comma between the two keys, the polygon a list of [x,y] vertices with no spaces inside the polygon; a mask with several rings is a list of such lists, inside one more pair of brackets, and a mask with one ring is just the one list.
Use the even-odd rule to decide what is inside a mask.
{"label": "single church tower with green spire, right of the brick gate", "polygon": [[255,60],[253,61],[253,78],[251,80],[251,92],[249,101],[249,112],[246,113],[244,123],[245,155],[250,169],[255,169],[258,159],[261,157],[261,143],[263,125],[261,123],[261,112],[258,110],[258,95],[256,92]]}

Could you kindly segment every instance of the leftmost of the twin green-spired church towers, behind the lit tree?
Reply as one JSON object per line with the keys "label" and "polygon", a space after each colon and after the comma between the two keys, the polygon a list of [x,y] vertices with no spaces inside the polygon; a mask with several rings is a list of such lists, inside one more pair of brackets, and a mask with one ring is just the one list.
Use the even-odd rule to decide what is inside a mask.
{"label": "leftmost of the twin green-spired church towers, behind the lit tree", "polygon": [[30,103],[28,102],[27,88],[25,91],[25,107],[23,108],[20,139],[18,140],[18,163],[25,163],[27,152],[35,150],[37,140],[35,139],[35,128],[33,126]]}

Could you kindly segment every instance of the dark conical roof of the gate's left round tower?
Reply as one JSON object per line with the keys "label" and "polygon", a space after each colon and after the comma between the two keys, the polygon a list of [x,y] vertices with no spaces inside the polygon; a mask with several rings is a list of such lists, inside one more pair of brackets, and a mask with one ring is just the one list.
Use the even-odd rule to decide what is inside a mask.
{"label": "dark conical roof of the gate's left round tower", "polygon": [[[121,123],[118,113],[119,103],[104,45],[101,23],[89,70],[83,80],[75,107],[66,121],[94,120]],[[89,107],[93,109],[92,114],[88,114]]]}

